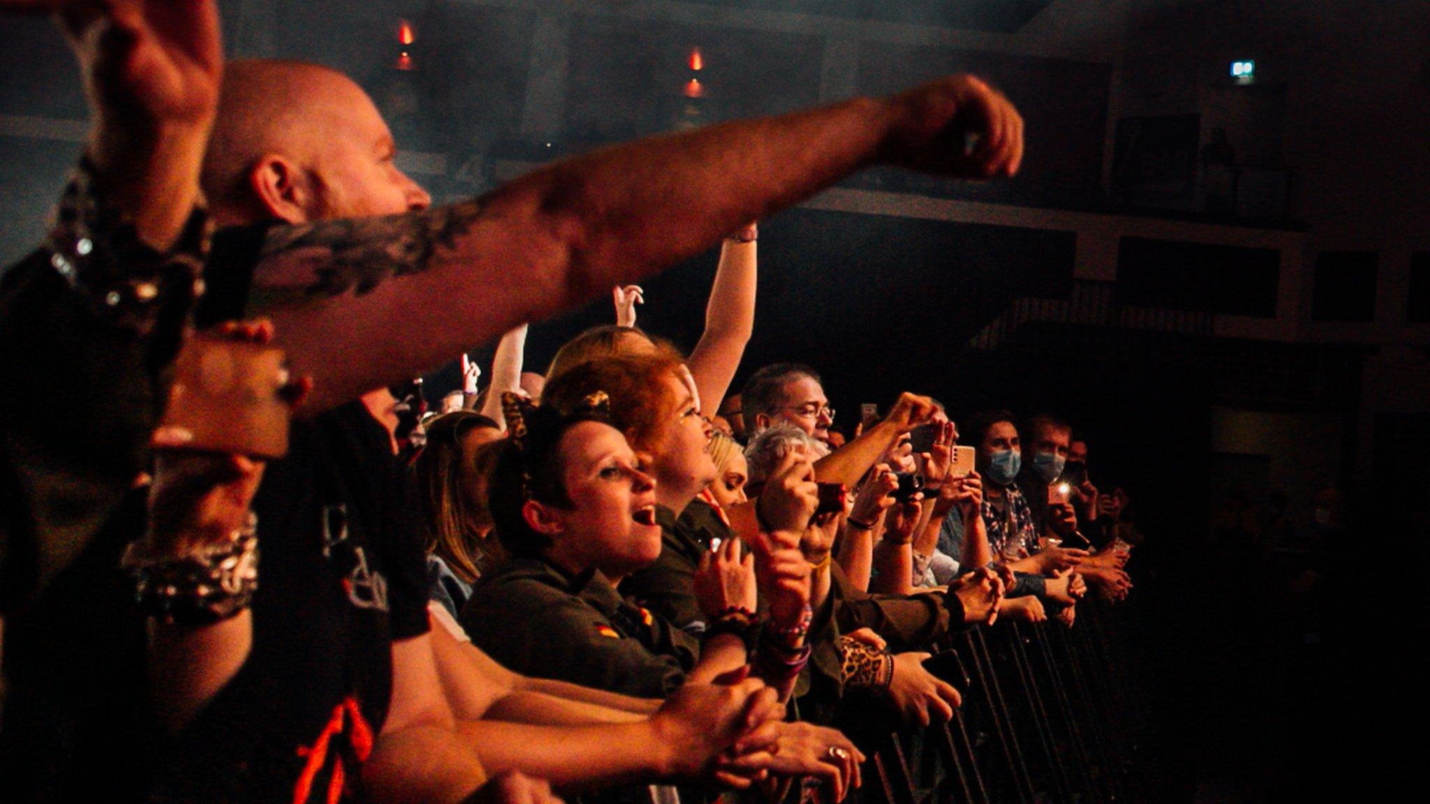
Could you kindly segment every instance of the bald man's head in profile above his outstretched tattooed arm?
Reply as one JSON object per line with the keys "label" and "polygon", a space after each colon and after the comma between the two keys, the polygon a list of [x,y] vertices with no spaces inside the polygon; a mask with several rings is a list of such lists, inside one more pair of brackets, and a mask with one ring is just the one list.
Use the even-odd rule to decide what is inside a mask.
{"label": "bald man's head in profile above his outstretched tattooed arm", "polygon": [[305,62],[233,62],[203,190],[219,225],[426,206],[426,193],[390,166],[395,153],[382,114],[347,76]]}

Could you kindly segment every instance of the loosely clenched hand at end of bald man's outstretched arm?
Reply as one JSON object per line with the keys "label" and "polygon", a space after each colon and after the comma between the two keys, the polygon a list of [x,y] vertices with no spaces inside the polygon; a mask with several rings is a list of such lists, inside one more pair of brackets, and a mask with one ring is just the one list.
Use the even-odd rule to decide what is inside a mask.
{"label": "loosely clenched hand at end of bald man's outstretched arm", "polygon": [[962,179],[1012,176],[1022,163],[1022,117],[998,90],[950,76],[891,99],[888,142],[897,165]]}

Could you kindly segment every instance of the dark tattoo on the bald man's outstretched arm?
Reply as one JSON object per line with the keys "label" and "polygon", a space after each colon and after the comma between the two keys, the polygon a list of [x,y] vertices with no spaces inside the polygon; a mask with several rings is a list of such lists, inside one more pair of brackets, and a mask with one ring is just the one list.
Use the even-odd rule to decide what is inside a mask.
{"label": "dark tattoo on the bald man's outstretched arm", "polygon": [[363,295],[383,280],[422,273],[452,252],[482,213],[479,199],[385,217],[346,217],[269,232],[260,260],[290,256],[313,265],[309,298]]}

